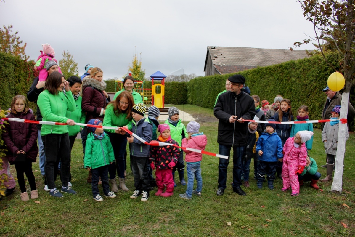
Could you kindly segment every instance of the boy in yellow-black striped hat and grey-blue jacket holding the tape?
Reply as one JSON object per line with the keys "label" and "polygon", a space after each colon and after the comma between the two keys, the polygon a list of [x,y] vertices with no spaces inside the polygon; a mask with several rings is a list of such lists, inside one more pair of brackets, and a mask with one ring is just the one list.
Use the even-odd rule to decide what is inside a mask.
{"label": "boy in yellow-black striped hat and grey-blue jacket holding the tape", "polygon": [[[135,104],[132,107],[132,133],[136,134],[146,142],[152,140],[152,124],[148,118],[144,117],[146,113],[146,106],[142,103]],[[127,141],[131,143],[131,162],[132,162],[132,174],[134,177],[134,185],[136,187],[133,194],[130,196],[132,199],[136,199],[142,194],[141,201],[147,201],[149,198],[149,190],[151,185],[148,177],[148,158],[151,146],[144,144],[132,135],[127,138]]]}

